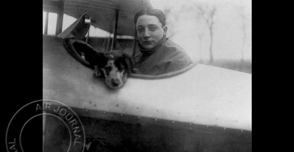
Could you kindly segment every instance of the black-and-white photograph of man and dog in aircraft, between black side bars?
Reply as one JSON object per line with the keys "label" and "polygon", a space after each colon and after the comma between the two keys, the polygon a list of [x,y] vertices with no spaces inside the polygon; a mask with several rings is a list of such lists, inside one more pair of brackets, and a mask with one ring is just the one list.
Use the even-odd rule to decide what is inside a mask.
{"label": "black-and-white photograph of man and dog in aircraft, between black side bars", "polygon": [[252,2],[43,0],[27,106],[43,152],[251,152]]}

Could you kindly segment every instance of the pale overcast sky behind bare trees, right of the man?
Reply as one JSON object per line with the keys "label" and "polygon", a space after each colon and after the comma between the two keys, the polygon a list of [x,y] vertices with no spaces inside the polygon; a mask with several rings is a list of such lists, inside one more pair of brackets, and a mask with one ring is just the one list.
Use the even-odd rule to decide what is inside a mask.
{"label": "pale overcast sky behind bare trees, right of the man", "polygon": [[[205,23],[196,19],[196,13],[183,10],[181,5],[216,6],[213,18],[213,55],[215,59],[252,59],[252,2],[251,0],[150,0],[153,7],[172,8],[167,20],[168,36],[182,46],[192,58],[209,59],[210,33]],[[244,15],[245,19],[241,16]],[[175,16],[180,16],[172,21]],[[245,26],[245,31],[243,29]],[[199,35],[201,35],[201,40]]]}

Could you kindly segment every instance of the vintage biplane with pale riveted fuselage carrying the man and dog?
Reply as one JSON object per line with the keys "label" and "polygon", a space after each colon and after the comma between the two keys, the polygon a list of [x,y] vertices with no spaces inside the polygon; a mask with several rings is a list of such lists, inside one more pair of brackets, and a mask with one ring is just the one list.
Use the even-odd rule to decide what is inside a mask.
{"label": "vintage biplane with pale riveted fuselage carrying the man and dog", "polygon": [[[151,4],[43,0],[43,11],[57,13],[56,33],[43,34],[43,99],[62,102],[76,112],[85,130],[84,152],[252,151],[251,74],[195,63],[172,74],[134,74],[123,88],[113,90],[65,47],[69,37],[96,47],[87,34],[93,25],[113,35],[106,39],[107,50],[127,42],[126,50],[134,54],[138,42],[133,17],[144,6]],[[77,20],[62,31],[64,14]],[[117,38],[125,35],[133,39]],[[54,123],[48,120],[46,127]],[[62,149],[46,137],[47,151]]]}

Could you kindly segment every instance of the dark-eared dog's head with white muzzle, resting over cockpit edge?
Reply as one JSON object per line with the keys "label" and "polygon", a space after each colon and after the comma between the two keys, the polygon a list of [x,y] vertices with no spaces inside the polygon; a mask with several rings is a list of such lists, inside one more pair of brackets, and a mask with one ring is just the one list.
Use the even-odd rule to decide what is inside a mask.
{"label": "dark-eared dog's head with white muzzle, resting over cockpit edge", "polygon": [[113,89],[121,88],[132,72],[132,58],[120,51],[96,53],[89,59],[95,67],[95,76],[104,76],[106,84]]}

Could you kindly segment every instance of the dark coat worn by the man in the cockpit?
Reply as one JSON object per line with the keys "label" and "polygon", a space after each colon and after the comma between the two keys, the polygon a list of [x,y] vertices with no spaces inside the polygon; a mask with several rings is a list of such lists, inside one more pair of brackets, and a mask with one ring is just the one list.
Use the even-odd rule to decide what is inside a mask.
{"label": "dark coat worn by the man in the cockpit", "polygon": [[180,70],[192,63],[182,47],[165,37],[151,50],[144,50],[141,46],[140,48],[141,52],[135,55],[135,68],[138,69],[139,74],[165,74]]}

